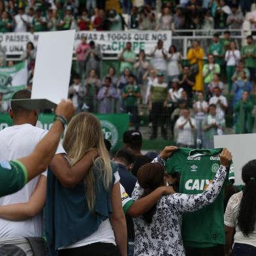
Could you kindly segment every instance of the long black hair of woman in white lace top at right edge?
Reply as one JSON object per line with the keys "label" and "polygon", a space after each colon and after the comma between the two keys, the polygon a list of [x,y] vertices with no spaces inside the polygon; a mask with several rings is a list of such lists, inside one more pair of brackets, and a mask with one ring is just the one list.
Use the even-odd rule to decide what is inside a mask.
{"label": "long black hair of woman in white lace top at right edge", "polygon": [[238,213],[238,227],[245,236],[254,231],[256,221],[256,160],[242,168],[242,180],[246,184]]}

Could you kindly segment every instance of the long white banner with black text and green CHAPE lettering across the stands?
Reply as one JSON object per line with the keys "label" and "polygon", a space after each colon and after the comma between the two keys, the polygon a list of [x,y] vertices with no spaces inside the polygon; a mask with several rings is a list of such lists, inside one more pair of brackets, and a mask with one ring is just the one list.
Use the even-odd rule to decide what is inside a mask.
{"label": "long white banner with black text and green CHAPE lettering across the stands", "polygon": [[[39,34],[0,33],[0,43],[7,55],[21,55],[27,42],[37,45]],[[172,43],[171,31],[79,31],[76,32],[74,49],[80,43],[83,35],[87,37],[88,43],[93,40],[101,48],[102,54],[119,54],[126,42],[133,43],[134,52],[145,50],[146,54],[155,48],[159,39],[163,40],[166,49]]]}

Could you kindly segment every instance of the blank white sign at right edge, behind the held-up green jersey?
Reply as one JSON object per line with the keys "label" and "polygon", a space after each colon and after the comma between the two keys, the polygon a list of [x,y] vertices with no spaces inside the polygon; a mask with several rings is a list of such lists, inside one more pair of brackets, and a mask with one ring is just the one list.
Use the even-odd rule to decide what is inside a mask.
{"label": "blank white sign at right edge, behind the held-up green jersey", "polygon": [[256,159],[256,134],[214,136],[215,148],[227,148],[234,162],[235,184],[242,185],[242,167],[248,161]]}

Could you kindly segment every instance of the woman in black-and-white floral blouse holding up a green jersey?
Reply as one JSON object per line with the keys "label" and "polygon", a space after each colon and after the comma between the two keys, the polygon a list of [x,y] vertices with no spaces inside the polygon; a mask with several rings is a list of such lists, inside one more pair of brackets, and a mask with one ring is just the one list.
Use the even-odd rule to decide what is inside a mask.
{"label": "woman in black-and-white floral blouse holding up a green jersey", "polygon": [[[135,256],[184,256],[181,224],[184,212],[194,212],[214,202],[225,181],[232,156],[226,149],[221,152],[216,177],[203,193],[197,195],[172,194],[163,196],[144,216],[134,218]],[[164,168],[159,163],[148,163],[138,170],[138,184],[133,198],[139,199],[164,185]]]}

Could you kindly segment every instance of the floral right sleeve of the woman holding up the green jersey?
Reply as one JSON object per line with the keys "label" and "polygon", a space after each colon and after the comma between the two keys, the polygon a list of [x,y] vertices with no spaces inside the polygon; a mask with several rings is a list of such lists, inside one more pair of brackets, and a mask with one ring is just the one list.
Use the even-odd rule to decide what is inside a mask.
{"label": "floral right sleeve of the woman holding up the green jersey", "polygon": [[226,168],[221,166],[219,167],[214,180],[203,193],[197,195],[187,195],[180,193],[174,194],[173,197],[177,202],[176,206],[178,210],[180,212],[195,212],[214,202],[214,200],[219,195],[219,192],[221,191],[221,187],[225,182],[226,176]]}

